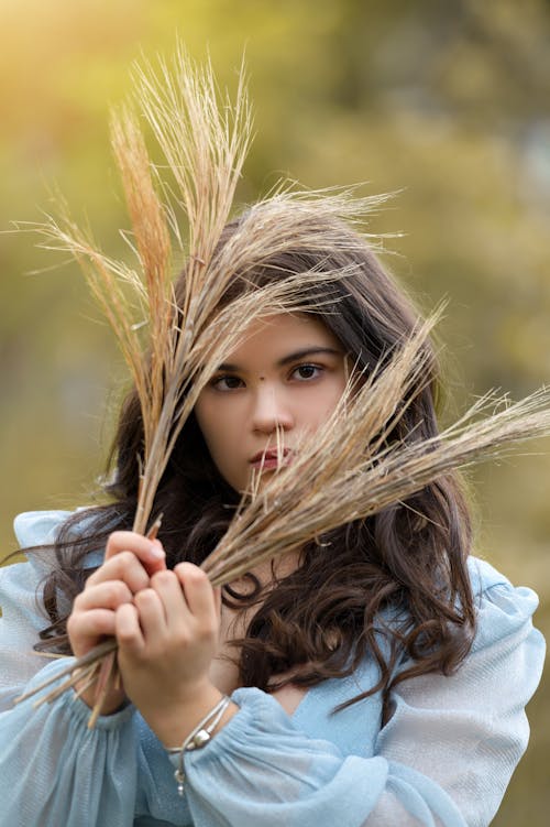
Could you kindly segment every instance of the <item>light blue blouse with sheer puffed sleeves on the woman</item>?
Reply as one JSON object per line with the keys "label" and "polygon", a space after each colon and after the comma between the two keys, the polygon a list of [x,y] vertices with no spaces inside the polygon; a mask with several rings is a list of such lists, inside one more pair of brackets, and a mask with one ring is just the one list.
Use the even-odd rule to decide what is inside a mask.
{"label": "light blue blouse with sheer puffed sleeves on the woman", "polygon": [[[51,542],[67,515],[20,515],[21,545]],[[375,683],[369,657],[309,689],[292,716],[260,689],[238,689],[240,711],[186,754],[184,798],[177,759],[133,707],[94,730],[70,693],[12,708],[29,681],[67,662],[43,667],[32,652],[47,623],[35,592],[51,565],[40,553],[0,569],[0,827],[482,827],[494,817],[527,746],[524,708],[544,642],[531,624],[536,595],[487,563],[470,561],[479,628],[455,675],[399,684],[384,727],[380,695],[332,714]]]}

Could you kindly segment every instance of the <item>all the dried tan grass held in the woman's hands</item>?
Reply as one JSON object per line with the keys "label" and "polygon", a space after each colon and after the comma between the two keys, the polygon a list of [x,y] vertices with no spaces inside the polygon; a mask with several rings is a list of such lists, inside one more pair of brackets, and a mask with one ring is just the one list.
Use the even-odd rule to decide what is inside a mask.
{"label": "all the dried tan grass held in the woman's hands", "polygon": [[[268,200],[270,220],[257,233],[252,208],[240,231],[217,248],[228,220],[250,141],[251,118],[241,73],[237,104],[219,104],[211,67],[191,66],[182,50],[175,70],[138,72],[138,99],[167,164],[173,186],[151,163],[135,117],[125,109],[113,119],[112,137],[130,216],[139,268],[130,269],[98,251],[65,216],[38,228],[46,247],[70,251],[109,319],[139,392],[145,427],[141,487],[134,530],[146,533],[154,496],[182,427],[198,394],[218,366],[245,335],[252,320],[293,311],[315,311],[304,303],[304,287],[345,279],[345,271],[307,272],[285,278],[227,304],[220,300],[237,273],[241,276],[294,243],[294,224],[308,218],[311,249],[342,243],[317,215],[353,221],[375,209],[385,196],[353,199],[349,193],[300,194],[279,189]],[[161,197],[162,196],[162,197]],[[293,209],[288,206],[292,204]],[[188,224],[185,295],[175,303],[172,270],[185,248],[177,210]],[[265,210],[264,210],[265,211]],[[349,244],[349,239],[346,240]],[[360,241],[358,240],[358,243]],[[361,241],[361,243],[363,243]],[[407,499],[452,468],[502,453],[519,439],[550,433],[550,394],[541,391],[515,405],[474,421],[498,400],[485,398],[439,437],[394,444],[392,432],[405,411],[404,400],[426,374],[424,347],[437,315],[402,344],[384,368],[352,376],[348,392],[326,425],[305,438],[293,461],[265,485],[252,486],[218,547],[204,564],[215,585],[230,583],[261,562],[354,520]],[[148,532],[154,532],[154,522]],[[94,726],[101,700],[116,679],[116,641],[106,641],[58,673],[66,677],[40,703],[70,686],[80,692],[97,684]],[[47,684],[36,687],[42,690]],[[22,696],[22,700],[28,695]]]}

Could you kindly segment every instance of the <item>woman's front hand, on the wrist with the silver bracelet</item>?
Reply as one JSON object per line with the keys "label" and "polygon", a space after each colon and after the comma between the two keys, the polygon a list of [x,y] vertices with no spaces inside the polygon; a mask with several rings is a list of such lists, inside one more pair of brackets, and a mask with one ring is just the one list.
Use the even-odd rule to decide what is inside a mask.
{"label": "woman's front hand, on the wrist with the silver bracelet", "polygon": [[117,610],[124,689],[168,746],[180,742],[220,698],[208,678],[219,618],[219,591],[191,563],[155,573],[133,603]]}

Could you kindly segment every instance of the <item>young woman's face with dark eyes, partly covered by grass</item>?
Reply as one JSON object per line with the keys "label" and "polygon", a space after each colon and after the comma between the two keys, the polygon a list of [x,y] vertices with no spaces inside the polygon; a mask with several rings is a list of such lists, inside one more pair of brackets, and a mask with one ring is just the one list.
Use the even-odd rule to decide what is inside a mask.
{"label": "young woman's face with dark eyes, partly covered by grass", "polygon": [[290,461],[300,437],[334,410],[346,376],[342,346],[315,316],[283,313],[253,323],[195,407],[227,482],[244,491],[254,472]]}

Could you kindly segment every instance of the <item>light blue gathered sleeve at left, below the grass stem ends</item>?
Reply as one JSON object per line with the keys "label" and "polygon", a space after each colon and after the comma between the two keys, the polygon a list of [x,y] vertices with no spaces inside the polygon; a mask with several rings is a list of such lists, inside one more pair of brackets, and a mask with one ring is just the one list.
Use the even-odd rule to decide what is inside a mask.
{"label": "light blue gathered sleeve at left, below the grass stem ends", "polygon": [[90,710],[73,692],[33,708],[51,688],[0,712],[0,827],[191,827],[166,751],[132,705],[88,729]]}

